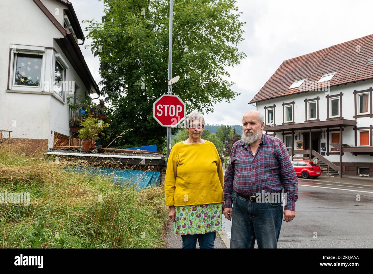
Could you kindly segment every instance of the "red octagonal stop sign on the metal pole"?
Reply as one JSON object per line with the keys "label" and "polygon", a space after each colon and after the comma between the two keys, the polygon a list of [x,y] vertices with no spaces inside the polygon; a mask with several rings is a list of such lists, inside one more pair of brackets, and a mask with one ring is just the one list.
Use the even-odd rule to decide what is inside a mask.
{"label": "red octagonal stop sign on the metal pole", "polygon": [[161,126],[175,127],[185,118],[185,104],[176,95],[163,94],[153,103],[153,117]]}

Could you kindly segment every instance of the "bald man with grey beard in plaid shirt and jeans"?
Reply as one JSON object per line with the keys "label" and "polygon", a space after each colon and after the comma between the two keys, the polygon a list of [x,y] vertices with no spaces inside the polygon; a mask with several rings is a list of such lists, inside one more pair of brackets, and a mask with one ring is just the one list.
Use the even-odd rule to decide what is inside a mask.
{"label": "bald man with grey beard in plaid shirt and jeans", "polygon": [[[233,145],[225,172],[224,215],[232,220],[231,248],[254,248],[255,240],[258,248],[277,248],[282,217],[286,223],[295,217],[297,174],[283,142],[263,134],[263,120],[256,110],[245,113],[242,138]],[[283,212],[281,200],[259,197],[263,193],[266,198],[286,196]]]}

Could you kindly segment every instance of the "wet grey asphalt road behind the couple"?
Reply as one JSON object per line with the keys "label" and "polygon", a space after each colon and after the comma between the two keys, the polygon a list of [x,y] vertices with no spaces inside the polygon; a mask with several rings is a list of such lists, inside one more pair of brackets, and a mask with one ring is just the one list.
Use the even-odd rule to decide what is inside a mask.
{"label": "wet grey asphalt road behind the couple", "polygon": [[[372,182],[320,178],[298,179],[295,219],[283,221],[278,248],[373,248]],[[229,237],[224,216],[223,229]]]}

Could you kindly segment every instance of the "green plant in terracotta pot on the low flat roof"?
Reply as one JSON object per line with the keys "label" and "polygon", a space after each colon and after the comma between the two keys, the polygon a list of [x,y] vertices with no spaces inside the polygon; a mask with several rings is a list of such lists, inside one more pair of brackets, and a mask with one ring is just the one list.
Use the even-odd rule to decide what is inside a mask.
{"label": "green plant in terracotta pot on the low flat roof", "polygon": [[83,149],[89,151],[91,147],[95,146],[98,133],[104,135],[103,130],[108,125],[91,115],[86,117],[83,121],[79,120],[79,122],[82,128],[78,130],[78,137],[82,138]]}

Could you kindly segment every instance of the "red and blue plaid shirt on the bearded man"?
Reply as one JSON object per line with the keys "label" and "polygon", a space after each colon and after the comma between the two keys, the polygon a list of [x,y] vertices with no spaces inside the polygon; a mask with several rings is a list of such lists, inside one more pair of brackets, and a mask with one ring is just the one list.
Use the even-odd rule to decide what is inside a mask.
{"label": "red and blue plaid shirt on the bearded man", "polygon": [[237,141],[231,151],[230,163],[224,176],[225,207],[232,208],[232,190],[251,196],[286,192],[284,210],[295,211],[298,199],[298,177],[283,142],[263,133],[259,147],[253,155],[250,145]]}

